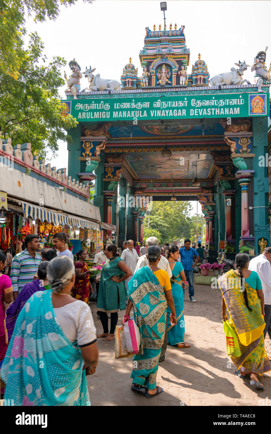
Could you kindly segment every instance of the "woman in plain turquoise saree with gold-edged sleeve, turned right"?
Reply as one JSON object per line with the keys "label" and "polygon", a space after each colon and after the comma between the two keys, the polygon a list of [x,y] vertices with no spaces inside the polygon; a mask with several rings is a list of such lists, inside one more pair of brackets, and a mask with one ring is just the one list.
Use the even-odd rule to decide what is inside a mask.
{"label": "woman in plain turquoise saree with gold-edged sleeve, turned right", "polygon": [[[172,271],[171,292],[174,300],[175,312],[177,315],[177,326],[171,327],[170,325],[170,307],[168,306],[168,343],[170,345],[177,345],[178,348],[189,348],[185,342],[185,317],[184,317],[184,286],[185,286],[185,272],[181,262],[177,262],[179,257],[179,248],[176,244],[171,244],[165,252],[166,258],[169,261],[169,266]],[[184,285],[184,286],[183,286]]]}

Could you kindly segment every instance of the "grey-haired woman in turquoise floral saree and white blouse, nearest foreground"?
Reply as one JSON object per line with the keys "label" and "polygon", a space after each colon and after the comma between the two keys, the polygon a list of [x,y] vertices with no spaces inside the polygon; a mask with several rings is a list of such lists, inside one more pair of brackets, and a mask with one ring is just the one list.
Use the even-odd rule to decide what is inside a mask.
{"label": "grey-haired woman in turquoise floral saree and white blouse, nearest foreground", "polygon": [[14,405],[90,405],[86,374],[98,363],[89,306],[73,299],[73,260],[47,268],[51,289],[34,293],[21,310],[1,368],[5,399]]}

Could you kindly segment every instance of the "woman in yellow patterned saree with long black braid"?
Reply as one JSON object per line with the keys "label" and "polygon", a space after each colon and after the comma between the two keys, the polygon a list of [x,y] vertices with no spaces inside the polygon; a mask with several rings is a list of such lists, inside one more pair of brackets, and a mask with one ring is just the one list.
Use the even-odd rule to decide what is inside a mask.
{"label": "woman in yellow patterned saree with long black braid", "polygon": [[241,355],[231,356],[240,378],[250,374],[250,384],[257,389],[264,387],[258,375],[271,371],[264,349],[264,295],[261,280],[255,271],[248,270],[249,256],[238,253],[235,257],[237,270],[230,270],[218,279],[222,292],[222,318],[234,329]]}

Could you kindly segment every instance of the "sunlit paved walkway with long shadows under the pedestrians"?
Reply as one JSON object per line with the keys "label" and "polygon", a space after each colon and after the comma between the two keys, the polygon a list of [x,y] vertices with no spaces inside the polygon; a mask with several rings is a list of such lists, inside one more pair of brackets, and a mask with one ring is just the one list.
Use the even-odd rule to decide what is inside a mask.
{"label": "sunlit paved walkway with long shadows under the pedestrians", "polygon": [[[145,398],[142,392],[131,390],[132,358],[115,359],[115,339],[98,339],[99,365],[96,373],[87,377],[92,405],[264,405],[265,397],[271,397],[271,372],[262,378],[264,391],[254,391],[249,378],[243,380],[234,374],[235,365],[226,352],[220,289],[195,285],[195,298],[195,303],[190,302],[185,289],[185,340],[191,348],[168,345],[166,359],[159,363],[157,385],[164,392]],[[101,332],[96,303],[91,308]],[[119,314],[119,324],[123,313]],[[265,348],[271,355],[268,336]]]}

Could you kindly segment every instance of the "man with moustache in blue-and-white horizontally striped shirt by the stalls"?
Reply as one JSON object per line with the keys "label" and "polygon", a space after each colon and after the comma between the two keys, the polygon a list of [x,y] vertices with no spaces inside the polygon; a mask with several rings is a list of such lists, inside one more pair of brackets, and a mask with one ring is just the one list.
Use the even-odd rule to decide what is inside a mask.
{"label": "man with moustache in blue-and-white horizontally striped shirt by the stalls", "polygon": [[34,234],[26,235],[24,243],[26,249],[17,253],[11,263],[10,279],[14,300],[23,286],[32,282],[41,262],[41,256],[36,252],[40,247],[38,237]]}

